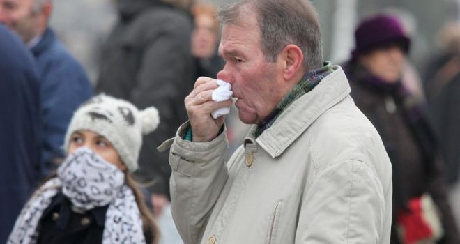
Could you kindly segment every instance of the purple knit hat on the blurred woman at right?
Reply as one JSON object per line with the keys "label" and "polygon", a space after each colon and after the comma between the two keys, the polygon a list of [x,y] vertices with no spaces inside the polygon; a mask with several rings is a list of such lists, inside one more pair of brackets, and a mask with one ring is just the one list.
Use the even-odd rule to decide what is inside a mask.
{"label": "purple knit hat on the blurred woman at right", "polygon": [[411,39],[396,17],[381,14],[369,17],[359,24],[355,31],[355,43],[356,47],[351,52],[353,59],[391,43],[401,45],[404,52],[408,53]]}

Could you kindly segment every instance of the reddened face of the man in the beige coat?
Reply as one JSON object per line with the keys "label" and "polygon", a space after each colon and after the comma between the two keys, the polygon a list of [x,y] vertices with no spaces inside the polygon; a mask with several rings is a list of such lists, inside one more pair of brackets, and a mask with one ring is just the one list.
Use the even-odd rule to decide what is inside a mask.
{"label": "reddened face of the man in the beige coat", "polygon": [[282,75],[279,63],[264,59],[256,17],[247,22],[223,26],[219,52],[226,63],[217,79],[231,83],[240,120],[259,124],[282,99]]}

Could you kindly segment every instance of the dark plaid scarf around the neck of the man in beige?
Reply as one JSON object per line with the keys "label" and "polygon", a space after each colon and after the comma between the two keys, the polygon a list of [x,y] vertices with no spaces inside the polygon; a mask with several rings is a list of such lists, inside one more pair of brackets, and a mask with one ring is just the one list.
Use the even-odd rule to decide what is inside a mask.
{"label": "dark plaid scarf around the neck of the man in beige", "polygon": [[302,77],[300,82],[296,86],[289,91],[289,93],[284,96],[284,98],[281,100],[281,102],[278,103],[278,105],[273,109],[273,111],[262,121],[262,123],[259,124],[257,129],[254,131],[255,137],[259,137],[259,135],[262,134],[262,132],[268,128],[270,128],[273,123],[275,123],[276,119],[282,112],[289,107],[295,100],[300,98],[301,96],[304,96],[307,94],[309,91],[312,91],[316,85],[321,82],[324,77],[330,75],[334,70],[332,69],[332,63],[329,61],[324,62],[324,66],[316,69],[309,71]]}

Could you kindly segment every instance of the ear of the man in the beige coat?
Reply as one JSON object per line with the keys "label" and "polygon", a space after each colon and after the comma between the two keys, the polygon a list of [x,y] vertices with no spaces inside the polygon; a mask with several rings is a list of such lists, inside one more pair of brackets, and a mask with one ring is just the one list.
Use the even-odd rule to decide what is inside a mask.
{"label": "ear of the man in the beige coat", "polygon": [[303,70],[303,52],[298,45],[289,44],[282,50],[283,76],[286,80],[295,77]]}

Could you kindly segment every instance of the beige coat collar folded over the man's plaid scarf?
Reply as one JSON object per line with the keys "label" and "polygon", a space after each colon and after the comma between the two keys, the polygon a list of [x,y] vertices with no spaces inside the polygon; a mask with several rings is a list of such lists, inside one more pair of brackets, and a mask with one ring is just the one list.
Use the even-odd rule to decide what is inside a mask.
{"label": "beige coat collar folded over the man's plaid scarf", "polygon": [[340,66],[332,66],[332,68],[335,70],[332,74],[325,77],[315,89],[287,107],[277,121],[257,139],[254,138],[254,130],[256,130],[257,125],[253,125],[247,133],[245,146],[247,143],[255,141],[272,158],[277,158],[323,112],[346,98],[351,89],[345,73]]}

